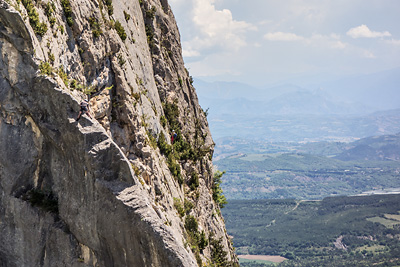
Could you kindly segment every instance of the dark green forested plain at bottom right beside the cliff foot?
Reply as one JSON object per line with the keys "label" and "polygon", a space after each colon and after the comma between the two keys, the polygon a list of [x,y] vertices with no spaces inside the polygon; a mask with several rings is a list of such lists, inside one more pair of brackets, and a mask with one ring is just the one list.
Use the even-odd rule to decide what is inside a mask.
{"label": "dark green forested plain at bottom right beside the cliff foot", "polygon": [[281,255],[280,266],[395,266],[399,211],[400,195],[374,195],[231,200],[223,215],[238,254]]}

